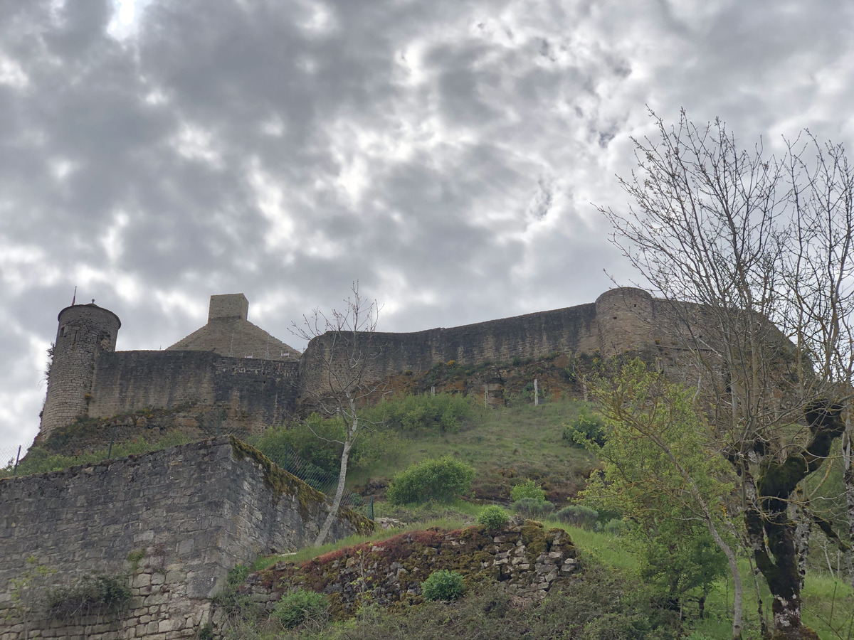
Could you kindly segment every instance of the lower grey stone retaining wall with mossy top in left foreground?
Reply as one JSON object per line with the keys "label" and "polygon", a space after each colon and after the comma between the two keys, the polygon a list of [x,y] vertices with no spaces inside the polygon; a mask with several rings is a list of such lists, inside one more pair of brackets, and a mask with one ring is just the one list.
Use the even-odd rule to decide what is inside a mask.
{"label": "lower grey stone retaining wall with mossy top in left foreground", "polygon": [[[191,636],[231,567],[311,544],[327,513],[323,494],[254,456],[221,438],[0,480],[0,640]],[[345,516],[331,535],[359,522]],[[28,569],[16,605],[11,581]],[[46,589],[87,574],[126,580],[126,608],[52,617]]]}

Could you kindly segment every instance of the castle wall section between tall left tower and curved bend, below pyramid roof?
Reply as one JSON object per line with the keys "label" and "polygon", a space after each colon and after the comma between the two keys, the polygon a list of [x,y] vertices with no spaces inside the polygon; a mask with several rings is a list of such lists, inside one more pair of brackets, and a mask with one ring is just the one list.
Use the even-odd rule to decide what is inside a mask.
{"label": "castle wall section between tall left tower and curved bend, below pyramid roof", "polygon": [[88,415],[146,407],[222,406],[259,424],[281,422],[295,401],[298,364],[213,352],[130,351],[97,359]]}

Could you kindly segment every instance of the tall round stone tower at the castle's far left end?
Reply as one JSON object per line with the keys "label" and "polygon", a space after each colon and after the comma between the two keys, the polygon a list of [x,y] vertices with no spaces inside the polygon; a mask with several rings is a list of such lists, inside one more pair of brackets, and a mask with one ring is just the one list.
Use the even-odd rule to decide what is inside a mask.
{"label": "tall round stone tower at the castle's far left end", "polygon": [[115,351],[121,321],[113,311],[95,304],[67,306],[59,312],[48,395],[39,438],[85,416],[97,358]]}

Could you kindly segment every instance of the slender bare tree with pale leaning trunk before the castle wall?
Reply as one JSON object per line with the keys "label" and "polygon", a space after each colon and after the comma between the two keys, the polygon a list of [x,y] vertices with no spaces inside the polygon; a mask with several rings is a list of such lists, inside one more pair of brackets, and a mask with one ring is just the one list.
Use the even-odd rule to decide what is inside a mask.
{"label": "slender bare tree with pale leaning trunk before the castle wall", "polygon": [[373,340],[378,312],[377,301],[366,300],[359,293],[359,282],[354,282],[341,311],[333,309],[325,314],[315,309],[303,317],[301,325],[295,323],[292,328],[295,335],[308,340],[301,359],[304,393],[313,408],[339,417],[344,426],[342,439],[336,440],[342,445],[338,484],[315,546],[324,544],[341,506],[350,451],[363,428],[362,408],[379,387],[371,373],[378,354]]}

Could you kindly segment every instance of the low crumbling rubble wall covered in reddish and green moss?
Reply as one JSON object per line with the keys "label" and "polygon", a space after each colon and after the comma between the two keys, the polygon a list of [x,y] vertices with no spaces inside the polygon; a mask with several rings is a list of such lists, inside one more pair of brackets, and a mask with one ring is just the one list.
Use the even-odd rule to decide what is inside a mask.
{"label": "low crumbling rubble wall covered in reddish and green moss", "polygon": [[[322,592],[329,597],[331,613],[340,619],[355,614],[362,602],[381,607],[421,602],[421,583],[440,569],[456,571],[470,587],[500,581],[514,595],[540,600],[553,586],[576,576],[580,565],[564,530],[512,521],[500,532],[483,526],[408,532],[301,564],[282,561],[250,574],[241,591],[265,611],[272,611],[291,589]],[[227,614],[222,608],[212,614],[220,632],[227,625]]]}

